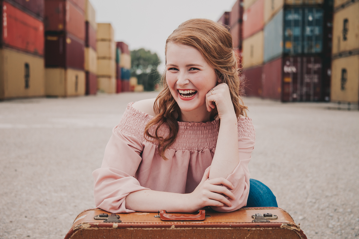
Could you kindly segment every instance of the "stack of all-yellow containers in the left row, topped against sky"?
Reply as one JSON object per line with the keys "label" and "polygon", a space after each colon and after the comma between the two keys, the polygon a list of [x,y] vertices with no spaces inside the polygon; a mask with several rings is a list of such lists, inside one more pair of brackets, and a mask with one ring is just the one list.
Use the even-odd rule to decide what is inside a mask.
{"label": "stack of all-yellow containers in the left row, topped against sky", "polygon": [[116,93],[116,43],[110,23],[97,24],[98,90]]}

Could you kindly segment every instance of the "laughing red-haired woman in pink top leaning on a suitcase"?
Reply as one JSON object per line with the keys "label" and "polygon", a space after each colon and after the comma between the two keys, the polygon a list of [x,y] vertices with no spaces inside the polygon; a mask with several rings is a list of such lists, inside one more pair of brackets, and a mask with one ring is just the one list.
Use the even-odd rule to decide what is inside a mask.
{"label": "laughing red-haired woman in pink top leaning on a suitcase", "polygon": [[[248,205],[255,130],[243,116],[230,33],[188,20],[168,37],[165,54],[164,89],[127,106],[93,172],[96,206],[121,213]],[[251,206],[276,206],[269,188],[252,180],[251,187]]]}

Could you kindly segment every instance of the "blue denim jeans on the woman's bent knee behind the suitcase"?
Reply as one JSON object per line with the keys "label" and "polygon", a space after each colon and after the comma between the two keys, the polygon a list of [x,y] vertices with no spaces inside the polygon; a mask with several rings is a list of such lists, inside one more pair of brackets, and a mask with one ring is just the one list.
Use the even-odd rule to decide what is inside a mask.
{"label": "blue denim jeans on the woman's bent knee behind the suitcase", "polygon": [[269,187],[251,178],[246,207],[278,207],[278,204]]}

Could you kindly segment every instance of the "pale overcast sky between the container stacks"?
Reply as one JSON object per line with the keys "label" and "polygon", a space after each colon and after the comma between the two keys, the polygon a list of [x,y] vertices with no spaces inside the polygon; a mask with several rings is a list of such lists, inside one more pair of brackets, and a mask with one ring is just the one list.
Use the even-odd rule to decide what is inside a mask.
{"label": "pale overcast sky between the container stacks", "polygon": [[230,11],[236,0],[90,0],[96,21],[111,23],[115,40],[130,50],[145,48],[164,61],[167,37],[183,21],[208,18],[217,21]]}

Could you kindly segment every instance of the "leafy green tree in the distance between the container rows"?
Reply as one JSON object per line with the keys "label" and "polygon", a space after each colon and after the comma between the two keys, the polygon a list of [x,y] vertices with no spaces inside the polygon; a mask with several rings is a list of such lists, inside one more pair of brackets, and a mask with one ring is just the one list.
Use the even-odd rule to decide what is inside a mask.
{"label": "leafy green tree in the distance between the container rows", "polygon": [[161,77],[157,71],[160,63],[156,53],[144,48],[131,51],[131,76],[137,77],[138,84],[143,85],[145,91],[154,91]]}

